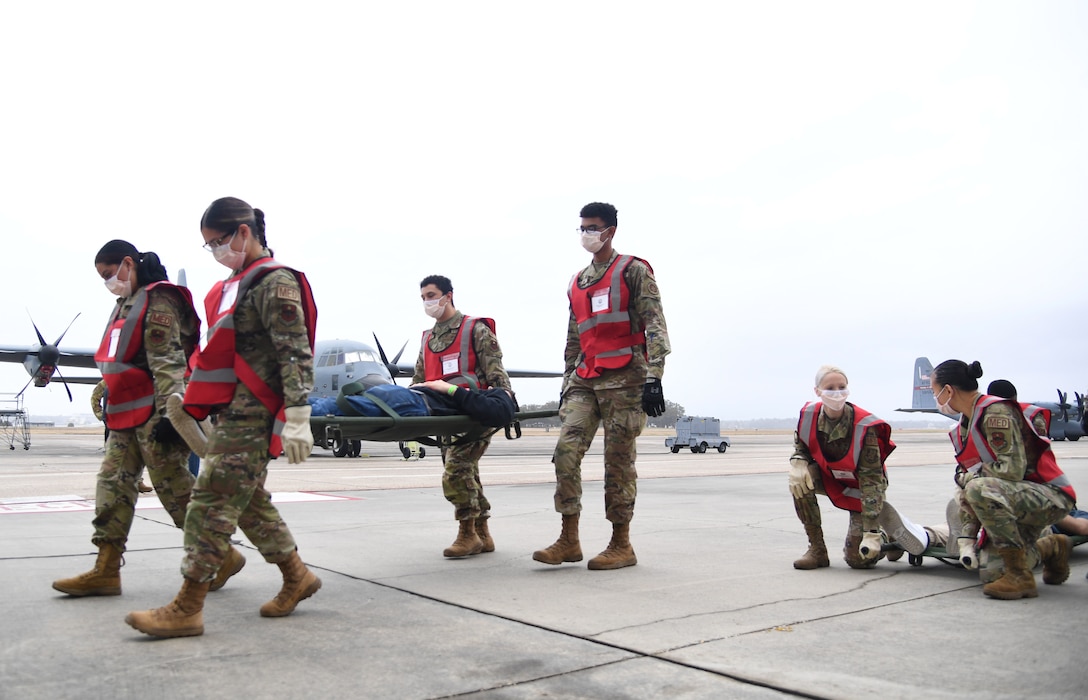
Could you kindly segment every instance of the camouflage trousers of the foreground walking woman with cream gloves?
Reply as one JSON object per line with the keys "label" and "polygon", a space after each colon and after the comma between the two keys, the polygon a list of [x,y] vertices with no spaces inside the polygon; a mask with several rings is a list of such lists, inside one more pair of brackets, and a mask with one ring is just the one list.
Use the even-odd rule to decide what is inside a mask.
{"label": "camouflage trousers of the foreground walking woman with cream gloves", "polygon": [[271,418],[212,427],[185,514],[185,578],[214,578],[238,527],[265,562],[277,564],[295,551],[295,538],[264,488],[271,434]]}

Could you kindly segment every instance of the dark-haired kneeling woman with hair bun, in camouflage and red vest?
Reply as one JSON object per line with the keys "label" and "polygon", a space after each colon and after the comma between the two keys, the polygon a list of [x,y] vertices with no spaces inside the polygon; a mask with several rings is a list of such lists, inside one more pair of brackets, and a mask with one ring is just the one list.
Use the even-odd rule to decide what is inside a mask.
{"label": "dark-haired kneeling woman with hair bun, in camouflage and red vest", "polygon": [[972,540],[985,527],[991,552],[1003,566],[994,579],[999,569],[990,557],[982,569],[984,580],[989,579],[982,592],[999,600],[1035,598],[1036,561],[1042,563],[1046,584],[1061,584],[1070,575],[1068,538],[1043,531],[1068,514],[1076,498],[1049,442],[1039,438],[1019,406],[978,392],[981,376],[978,363],[961,360],[945,360],[930,376],[938,407],[962,414],[953,433],[960,450],[955,481],[962,489],[955,499],[961,528],[956,551],[969,562],[975,556]]}

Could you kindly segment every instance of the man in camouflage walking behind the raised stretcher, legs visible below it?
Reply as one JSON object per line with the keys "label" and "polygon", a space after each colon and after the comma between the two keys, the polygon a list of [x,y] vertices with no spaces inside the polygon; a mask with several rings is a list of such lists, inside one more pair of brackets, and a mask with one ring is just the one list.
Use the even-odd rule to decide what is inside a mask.
{"label": "man in camouflage walking behind the raised stretcher, legs visible below it", "polygon": [[[444,353],[457,340],[457,334],[465,322],[465,315],[454,307],[453,285],[448,278],[428,277],[420,285],[420,292],[424,310],[430,302],[431,308],[441,311],[432,311],[432,314],[438,312],[438,316],[434,317],[437,320],[426,341],[428,348],[433,353]],[[447,294],[449,300],[442,305],[441,299]],[[478,321],[472,326],[472,347],[477,358],[474,377],[477,384],[511,391],[510,378],[503,367],[503,351],[498,346],[498,339],[485,322]],[[412,383],[419,384],[426,379],[424,353],[420,347]],[[449,381],[457,383],[453,378]],[[458,521],[457,539],[443,551],[444,556],[462,557],[495,551],[495,541],[487,525],[487,519],[491,517],[491,502],[484,495],[483,483],[480,481],[480,458],[490,444],[491,438],[487,437],[444,447],[442,451],[444,465],[442,492],[454,505],[454,518]]]}

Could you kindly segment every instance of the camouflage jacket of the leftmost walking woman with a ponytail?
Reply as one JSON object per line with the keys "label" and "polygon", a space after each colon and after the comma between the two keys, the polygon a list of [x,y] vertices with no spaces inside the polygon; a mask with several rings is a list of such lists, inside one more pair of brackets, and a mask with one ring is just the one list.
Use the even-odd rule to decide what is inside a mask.
{"label": "camouflage jacket of the leftmost walking woman with a ponytail", "polygon": [[[132,365],[151,373],[156,412],[165,415],[166,396],[185,393],[185,372],[199,341],[200,326],[193,306],[171,287],[157,286],[147,296],[144,342]],[[118,299],[121,306],[118,318],[128,318],[135,300],[135,295]]]}

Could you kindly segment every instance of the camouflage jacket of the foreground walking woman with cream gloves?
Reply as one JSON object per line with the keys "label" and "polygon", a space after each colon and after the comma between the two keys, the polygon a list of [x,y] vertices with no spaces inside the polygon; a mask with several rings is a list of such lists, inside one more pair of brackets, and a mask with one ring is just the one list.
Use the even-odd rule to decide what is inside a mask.
{"label": "camouflage jacket of the foreground walking woman with cream gloves", "polygon": [[[261,257],[265,257],[262,255]],[[307,334],[298,280],[290,270],[259,279],[234,309],[234,348],[286,406],[304,406],[313,388],[313,349]],[[238,382],[227,412],[268,416]]]}

